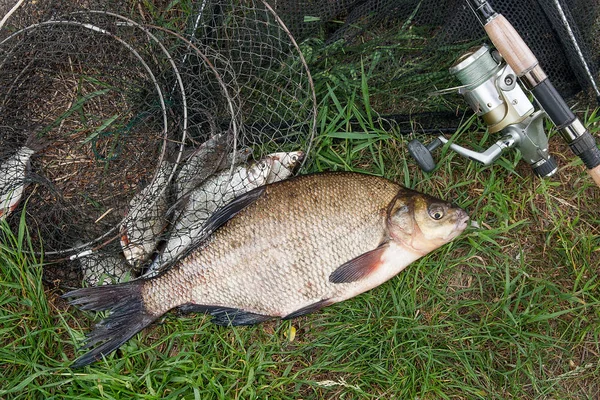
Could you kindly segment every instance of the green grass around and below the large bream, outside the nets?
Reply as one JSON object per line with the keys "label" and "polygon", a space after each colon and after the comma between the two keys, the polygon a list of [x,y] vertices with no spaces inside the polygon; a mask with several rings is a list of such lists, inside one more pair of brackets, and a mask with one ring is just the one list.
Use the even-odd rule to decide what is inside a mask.
{"label": "green grass around and below the large bream, outside the nets", "polygon": [[[15,237],[2,224],[0,399],[598,398],[600,191],[583,167],[553,134],[553,179],[533,177],[514,152],[483,167],[446,148],[423,173],[408,157],[411,137],[382,129],[376,69],[355,67],[344,85],[317,74],[319,136],[304,172],[383,175],[455,201],[481,228],[319,313],[236,328],[169,314],[73,371],[101,316],[44,288],[43,260],[23,252],[25,227]],[[585,119],[597,135],[598,115]],[[455,140],[489,145],[477,123],[464,121]]]}

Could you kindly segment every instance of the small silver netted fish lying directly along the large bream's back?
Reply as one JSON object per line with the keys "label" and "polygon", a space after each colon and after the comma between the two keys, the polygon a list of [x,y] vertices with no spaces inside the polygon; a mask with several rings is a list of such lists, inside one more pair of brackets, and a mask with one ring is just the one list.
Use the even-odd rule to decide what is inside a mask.
{"label": "small silver netted fish lying directly along the large bream's back", "polygon": [[238,166],[233,173],[222,171],[207,179],[189,193],[183,210],[170,232],[164,250],[144,276],[154,276],[162,267],[175,260],[201,236],[204,222],[220,207],[235,197],[267,182],[274,159],[265,157],[249,166]]}

